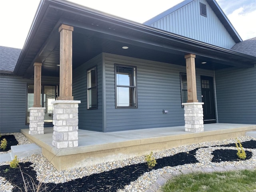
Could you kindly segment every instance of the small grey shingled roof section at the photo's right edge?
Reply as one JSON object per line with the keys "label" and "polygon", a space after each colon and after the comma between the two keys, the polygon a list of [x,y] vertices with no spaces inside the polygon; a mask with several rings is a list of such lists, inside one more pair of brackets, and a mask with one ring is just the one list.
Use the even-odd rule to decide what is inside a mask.
{"label": "small grey shingled roof section at the photo's right edge", "polygon": [[231,49],[256,57],[256,37],[237,43]]}

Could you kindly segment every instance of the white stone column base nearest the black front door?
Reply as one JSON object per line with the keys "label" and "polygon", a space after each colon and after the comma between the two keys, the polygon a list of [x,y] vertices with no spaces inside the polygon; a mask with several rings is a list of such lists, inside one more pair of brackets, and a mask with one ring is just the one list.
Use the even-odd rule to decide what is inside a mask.
{"label": "white stone column base nearest the black front door", "polygon": [[204,131],[204,103],[182,103],[184,105],[185,131]]}

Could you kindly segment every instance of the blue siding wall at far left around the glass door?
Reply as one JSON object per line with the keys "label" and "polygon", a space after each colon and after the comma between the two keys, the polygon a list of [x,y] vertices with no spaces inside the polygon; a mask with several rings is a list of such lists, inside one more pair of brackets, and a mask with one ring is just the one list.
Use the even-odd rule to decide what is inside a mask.
{"label": "blue siding wall at far left around the glass door", "polygon": [[[20,132],[26,125],[26,86],[34,80],[0,75],[0,132]],[[42,84],[59,84],[59,78],[42,76]],[[44,127],[52,124],[44,124]]]}

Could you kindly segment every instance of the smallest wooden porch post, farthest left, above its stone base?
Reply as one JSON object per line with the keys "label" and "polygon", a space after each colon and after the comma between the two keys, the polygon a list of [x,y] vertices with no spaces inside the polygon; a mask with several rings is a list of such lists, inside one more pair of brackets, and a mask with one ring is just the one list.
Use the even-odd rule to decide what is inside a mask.
{"label": "smallest wooden porch post, farthest left, above its stone base", "polygon": [[34,63],[34,105],[33,107],[42,107],[40,103],[41,68],[42,68],[42,63]]}

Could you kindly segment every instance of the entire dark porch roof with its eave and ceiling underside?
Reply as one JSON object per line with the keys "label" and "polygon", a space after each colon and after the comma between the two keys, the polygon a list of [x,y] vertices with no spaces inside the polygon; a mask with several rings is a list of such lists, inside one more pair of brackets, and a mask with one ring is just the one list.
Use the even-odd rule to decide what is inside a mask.
{"label": "entire dark porch roof with its eave and ceiling underside", "polygon": [[[64,0],[41,0],[14,73],[30,78],[34,62],[42,75],[58,76],[60,24],[74,26],[73,68],[101,52],[186,65],[184,55],[196,54],[196,67],[217,70],[250,68],[256,57],[118,18]],[[123,50],[122,46],[129,49]],[[206,65],[201,62],[207,62]]]}

